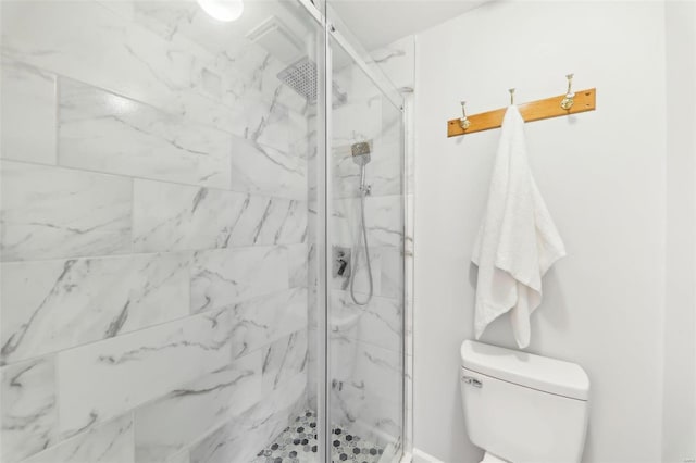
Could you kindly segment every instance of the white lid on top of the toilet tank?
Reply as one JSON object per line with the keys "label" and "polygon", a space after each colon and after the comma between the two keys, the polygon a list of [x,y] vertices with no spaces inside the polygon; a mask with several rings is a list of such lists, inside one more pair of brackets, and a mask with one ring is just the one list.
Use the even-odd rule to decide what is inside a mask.
{"label": "white lid on top of the toilet tank", "polygon": [[545,392],[587,400],[589,378],[575,363],[465,340],[461,365],[483,375]]}

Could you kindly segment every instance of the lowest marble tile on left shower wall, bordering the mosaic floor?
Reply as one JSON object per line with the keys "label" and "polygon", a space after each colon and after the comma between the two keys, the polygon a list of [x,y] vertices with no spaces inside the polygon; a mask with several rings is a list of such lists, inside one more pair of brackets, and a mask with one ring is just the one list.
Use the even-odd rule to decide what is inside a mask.
{"label": "lowest marble tile on left shower wall, bordering the mosaic floor", "polygon": [[244,415],[222,426],[190,451],[190,463],[248,463],[306,405],[307,378],[297,375]]}

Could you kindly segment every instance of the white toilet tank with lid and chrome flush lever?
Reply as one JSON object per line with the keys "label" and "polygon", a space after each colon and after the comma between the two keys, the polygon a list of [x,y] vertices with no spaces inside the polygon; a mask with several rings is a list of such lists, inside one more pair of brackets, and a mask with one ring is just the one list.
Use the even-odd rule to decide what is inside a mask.
{"label": "white toilet tank with lid and chrome flush lever", "polygon": [[513,463],[580,462],[589,395],[580,365],[467,340],[460,380],[474,445]]}

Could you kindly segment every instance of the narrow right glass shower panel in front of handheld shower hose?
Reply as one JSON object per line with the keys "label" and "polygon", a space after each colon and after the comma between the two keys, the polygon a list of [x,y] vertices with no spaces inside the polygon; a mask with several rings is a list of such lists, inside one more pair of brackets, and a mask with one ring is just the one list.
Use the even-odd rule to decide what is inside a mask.
{"label": "narrow right glass shower panel in front of handheld shower hose", "polygon": [[330,50],[331,456],[390,462],[405,410],[402,113],[339,39]]}

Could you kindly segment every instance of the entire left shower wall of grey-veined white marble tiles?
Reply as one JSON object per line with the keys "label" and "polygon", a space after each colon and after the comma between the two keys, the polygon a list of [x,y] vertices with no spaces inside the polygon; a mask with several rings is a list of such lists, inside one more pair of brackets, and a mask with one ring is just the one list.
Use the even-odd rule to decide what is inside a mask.
{"label": "entire left shower wall of grey-veined white marble tiles", "polygon": [[307,405],[306,103],[165,5],[2,3],[2,462],[246,462]]}

